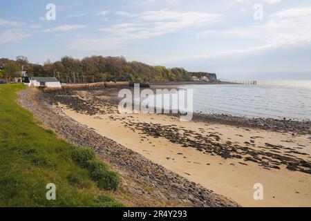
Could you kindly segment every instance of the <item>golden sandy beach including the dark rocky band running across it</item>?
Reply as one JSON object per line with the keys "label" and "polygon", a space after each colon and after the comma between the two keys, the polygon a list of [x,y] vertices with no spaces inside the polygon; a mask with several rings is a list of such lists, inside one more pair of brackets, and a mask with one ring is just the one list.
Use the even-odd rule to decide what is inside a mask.
{"label": "golden sandy beach including the dark rocky band running across it", "polygon": [[[76,96],[80,101],[97,101],[93,107],[97,111],[90,115],[58,103],[65,115],[242,206],[311,206],[310,135],[180,122],[168,115],[120,114],[105,103],[106,95],[79,91]],[[219,151],[223,145],[234,146],[236,156]],[[208,151],[213,146],[217,148]],[[254,200],[256,183],[263,184],[263,200]]]}

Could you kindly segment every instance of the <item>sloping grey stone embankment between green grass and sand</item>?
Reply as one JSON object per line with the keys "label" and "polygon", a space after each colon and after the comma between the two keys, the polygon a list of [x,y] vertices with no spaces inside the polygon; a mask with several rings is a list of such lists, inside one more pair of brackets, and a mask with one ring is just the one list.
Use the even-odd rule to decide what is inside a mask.
{"label": "sloping grey stone embankment between green grass and sand", "polygon": [[23,90],[19,93],[19,104],[71,144],[92,148],[120,173],[121,188],[132,198],[148,202],[147,206],[238,206],[236,202],[190,182],[75,122],[62,114],[60,108],[53,107],[55,101],[48,97],[37,90]]}

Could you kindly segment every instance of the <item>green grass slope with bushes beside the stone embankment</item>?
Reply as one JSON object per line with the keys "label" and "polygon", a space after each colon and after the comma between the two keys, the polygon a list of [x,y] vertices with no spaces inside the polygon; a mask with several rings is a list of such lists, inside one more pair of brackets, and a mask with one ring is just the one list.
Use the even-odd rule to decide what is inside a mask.
{"label": "green grass slope with bushes beside the stone embankment", "polygon": [[[100,195],[119,186],[109,166],[93,151],[37,125],[16,103],[17,92],[25,88],[0,85],[0,206],[123,206]],[[49,183],[56,185],[56,200],[46,200]]]}

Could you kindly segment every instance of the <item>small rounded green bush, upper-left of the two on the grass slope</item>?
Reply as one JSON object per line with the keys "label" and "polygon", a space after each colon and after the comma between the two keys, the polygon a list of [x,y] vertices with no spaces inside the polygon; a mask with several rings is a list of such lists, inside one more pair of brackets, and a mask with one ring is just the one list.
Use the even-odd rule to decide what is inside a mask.
{"label": "small rounded green bush, upper-left of the two on the grass slope", "polygon": [[77,164],[84,168],[89,168],[96,161],[95,153],[88,148],[75,148],[72,157]]}

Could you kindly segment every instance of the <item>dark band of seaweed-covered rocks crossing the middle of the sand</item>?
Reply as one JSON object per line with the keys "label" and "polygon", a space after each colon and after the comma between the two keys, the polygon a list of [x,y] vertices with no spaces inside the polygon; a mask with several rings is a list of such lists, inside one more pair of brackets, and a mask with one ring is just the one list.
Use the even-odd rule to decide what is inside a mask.
{"label": "dark band of seaweed-covered rocks crossing the middle of the sand", "polygon": [[[208,135],[202,135],[195,131],[188,130],[187,128],[148,123],[138,124],[131,122],[131,124],[127,124],[126,126],[133,130],[140,130],[144,135],[150,135],[151,137],[165,137],[174,144],[180,144],[185,148],[195,148],[201,153],[219,155],[225,160],[236,158],[243,160],[243,162],[240,162],[243,164],[254,162],[267,170],[280,169],[280,166],[283,165],[290,171],[301,171],[302,173],[311,174],[311,162],[300,158],[302,155],[310,158],[307,153],[300,153],[294,148],[285,147],[281,144],[274,145],[269,143],[265,143],[265,146],[261,146],[260,151],[255,150],[253,148],[255,146],[253,143],[257,138],[263,137],[254,136],[251,140],[245,141],[243,143],[244,145],[241,146],[230,141],[221,144],[219,142],[220,136],[218,133],[214,132],[209,132]],[[204,130],[202,129],[201,131]],[[281,154],[280,151],[285,151],[285,154]]]}

